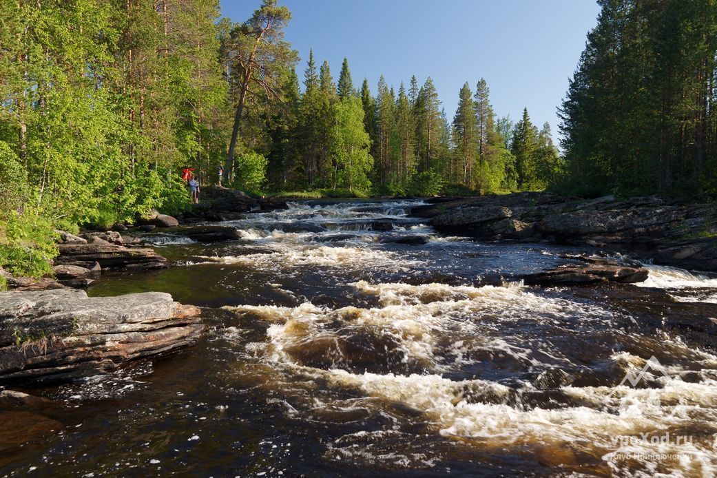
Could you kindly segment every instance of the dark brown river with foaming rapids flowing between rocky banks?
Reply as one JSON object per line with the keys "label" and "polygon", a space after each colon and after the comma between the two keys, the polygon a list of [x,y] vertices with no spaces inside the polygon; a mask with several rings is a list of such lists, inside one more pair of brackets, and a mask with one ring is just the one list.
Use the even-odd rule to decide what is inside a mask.
{"label": "dark brown river with foaming rapids flowing between rocky banks", "polygon": [[204,307],[204,338],[0,411],[2,471],[715,472],[717,279],[522,287],[576,249],[438,236],[415,204],[295,204],[227,223],[244,239],[224,244],[154,236],[186,265],[90,295],[170,292]]}

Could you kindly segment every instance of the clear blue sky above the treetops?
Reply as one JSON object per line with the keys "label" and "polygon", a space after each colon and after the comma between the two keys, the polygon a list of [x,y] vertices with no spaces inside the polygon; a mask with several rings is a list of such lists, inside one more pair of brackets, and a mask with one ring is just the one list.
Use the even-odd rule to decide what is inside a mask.
{"label": "clear blue sky above the treetops", "polygon": [[[248,19],[260,0],[221,0],[222,14]],[[513,120],[528,107],[533,123],[557,136],[560,104],[585,35],[596,24],[594,0],[279,0],[293,14],[286,39],[305,61],[313,48],[335,79],[348,58],[353,83],[379,76],[398,90],[416,75],[432,77],[449,120],[458,90],[480,77],[498,115]]]}

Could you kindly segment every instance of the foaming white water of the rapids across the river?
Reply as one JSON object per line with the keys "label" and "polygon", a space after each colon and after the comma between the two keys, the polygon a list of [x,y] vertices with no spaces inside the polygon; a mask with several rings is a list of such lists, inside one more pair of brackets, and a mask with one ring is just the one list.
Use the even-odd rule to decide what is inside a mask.
{"label": "foaming white water of the rapids across the river", "polygon": [[[404,211],[399,205],[378,212],[352,211],[345,205],[295,205],[273,218],[252,220],[244,238],[267,252],[207,259],[280,272],[327,267],[335,271],[335,282],[348,271],[432,267],[435,257],[378,244],[381,234],[394,233],[427,234],[431,242],[426,247],[456,244],[455,252],[445,249],[445,254],[462,267],[485,257],[478,246],[460,249],[465,239],[435,236],[421,224],[401,224],[385,233],[363,223],[351,224],[388,214],[401,219]],[[286,223],[288,218],[311,224],[331,219],[326,229],[332,232],[321,233],[323,238],[345,231],[356,235],[330,244],[317,242],[315,232],[285,232],[285,224],[272,226],[272,221]],[[559,257],[539,249],[535,254],[546,261]],[[711,302],[712,289],[717,289],[717,279],[711,277],[647,267],[650,278],[638,286],[668,290],[676,300]],[[312,378],[308,383],[326,381],[331,389],[351,389],[363,397],[309,391],[311,398],[304,406],[287,404],[287,413],[295,419],[357,408],[380,415],[391,403],[400,403],[457,446],[495,454],[524,450],[543,464],[573,470],[584,457],[593,457],[619,475],[717,473],[717,428],[708,425],[717,423],[717,356],[666,334],[646,337],[616,328],[616,322],[635,322],[625,312],[520,284],[474,287],[359,280],[343,286],[374,305],[330,307],[306,301],[296,307],[228,307],[237,315],[267,322],[266,341],[251,343],[247,350],[278,371],[288,395],[307,393],[298,391],[300,385],[288,385],[296,374],[301,380]],[[232,336],[228,334],[227,340]],[[597,379],[589,374],[581,378],[586,363],[597,370],[593,372],[598,378],[619,381],[628,373],[638,376],[651,354],[660,355],[665,366],[659,373],[643,375],[649,386],[599,385],[591,383]],[[601,360],[602,365],[596,365]],[[697,378],[688,380],[694,373]],[[543,376],[560,380],[549,379],[546,388],[538,385]],[[576,384],[581,379],[589,383]],[[272,380],[277,377],[272,375]],[[398,426],[353,432],[329,444],[327,457],[434,466],[435,457],[429,453],[386,452],[380,446],[382,440],[406,436]],[[683,436],[689,440],[680,440]]]}

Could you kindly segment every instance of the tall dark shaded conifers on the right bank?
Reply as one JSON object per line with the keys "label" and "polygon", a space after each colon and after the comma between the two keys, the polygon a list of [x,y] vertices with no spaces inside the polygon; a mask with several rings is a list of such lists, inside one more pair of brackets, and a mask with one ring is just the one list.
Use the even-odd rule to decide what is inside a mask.
{"label": "tall dark shaded conifers on the right bank", "polygon": [[600,0],[560,113],[562,191],[717,195],[717,3]]}

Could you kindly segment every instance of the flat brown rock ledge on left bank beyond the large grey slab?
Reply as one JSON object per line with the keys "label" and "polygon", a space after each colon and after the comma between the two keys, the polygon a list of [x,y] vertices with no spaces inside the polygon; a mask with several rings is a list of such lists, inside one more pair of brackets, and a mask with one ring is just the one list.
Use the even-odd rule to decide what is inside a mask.
{"label": "flat brown rock ledge on left bank beyond the large grey slab", "polygon": [[102,269],[156,269],[168,267],[167,259],[152,249],[128,248],[95,236],[88,244],[60,244],[56,265],[71,265],[90,269],[100,264]]}

